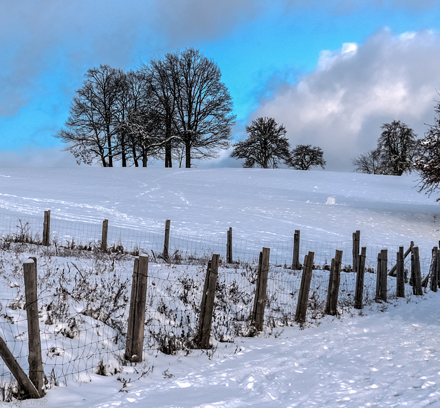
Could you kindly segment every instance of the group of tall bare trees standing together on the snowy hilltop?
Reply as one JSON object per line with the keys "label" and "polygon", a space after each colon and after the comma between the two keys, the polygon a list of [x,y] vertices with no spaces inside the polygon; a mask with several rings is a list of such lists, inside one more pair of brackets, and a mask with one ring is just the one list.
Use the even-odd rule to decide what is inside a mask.
{"label": "group of tall bare trees standing together on the snowy hilltop", "polygon": [[69,111],[56,137],[78,162],[103,167],[146,167],[148,158],[191,167],[229,147],[235,120],[219,67],[193,48],[137,71],[89,69]]}

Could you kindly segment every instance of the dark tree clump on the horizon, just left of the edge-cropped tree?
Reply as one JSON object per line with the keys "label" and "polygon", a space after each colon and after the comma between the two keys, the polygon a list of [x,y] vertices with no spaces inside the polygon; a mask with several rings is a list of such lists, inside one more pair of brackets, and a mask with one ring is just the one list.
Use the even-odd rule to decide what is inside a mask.
{"label": "dark tree clump on the horizon, just left of the edge-cropped tree", "polygon": [[384,123],[380,129],[377,148],[353,159],[355,171],[388,175],[410,173],[419,155],[419,140],[414,131],[400,120]]}

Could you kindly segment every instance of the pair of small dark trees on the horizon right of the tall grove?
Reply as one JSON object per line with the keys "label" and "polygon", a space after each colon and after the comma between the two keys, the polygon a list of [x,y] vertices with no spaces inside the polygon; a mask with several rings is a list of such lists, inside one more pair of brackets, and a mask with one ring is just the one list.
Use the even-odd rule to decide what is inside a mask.
{"label": "pair of small dark trees on the horizon right of the tall grove", "polygon": [[280,162],[297,170],[309,170],[311,167],[325,167],[324,152],[311,144],[298,144],[291,150],[287,131],[278,125],[274,118],[256,118],[250,126],[247,139],[234,144],[231,157],[244,159],[243,167],[261,167],[276,169]]}

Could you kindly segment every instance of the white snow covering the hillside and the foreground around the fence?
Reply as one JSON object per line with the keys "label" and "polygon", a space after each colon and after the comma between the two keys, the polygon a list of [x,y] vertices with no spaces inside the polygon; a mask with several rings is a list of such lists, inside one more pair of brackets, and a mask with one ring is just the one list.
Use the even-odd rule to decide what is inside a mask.
{"label": "white snow covering the hillside and the foreground around the fence", "polygon": [[[434,202],[435,197],[417,193],[415,184],[414,175],[398,178],[293,170],[0,169],[0,232],[5,234],[10,228],[17,228],[18,220],[28,222],[32,228],[41,228],[43,213],[49,209],[54,226],[51,237],[58,239],[58,243],[66,244],[72,239],[76,243],[78,239],[97,240],[102,220],[109,219],[115,244],[119,239],[126,246],[129,237],[135,237],[137,246],[146,251],[153,241],[160,245],[164,221],[171,219],[173,245],[186,244],[189,250],[194,250],[197,243],[203,241],[209,252],[225,251],[226,231],[232,227],[234,240],[239,243],[236,253],[241,260],[252,260],[255,250],[262,245],[269,246],[272,268],[276,272],[283,269],[283,261],[289,264],[296,229],[301,231],[302,255],[307,250],[324,254],[320,257],[321,265],[329,263],[327,256],[333,256],[335,248],[344,250],[345,263],[349,263],[351,235],[361,230],[361,245],[371,250],[371,262],[377,248],[388,248],[389,257],[395,257],[398,246],[408,248],[410,241],[415,241],[426,269],[431,248],[438,244],[440,237],[437,224],[440,207]],[[21,278],[17,269],[23,259],[33,255],[32,251],[32,246],[21,249],[12,246],[3,251],[0,264],[4,269],[3,279],[7,279],[0,293],[3,301],[20,299]],[[129,284],[132,259],[128,255],[115,259],[111,273],[106,275],[102,271],[94,277],[97,286],[87,288],[89,292],[100,288],[100,292],[91,301],[75,295],[75,290],[85,285],[83,282],[83,286],[78,286],[78,276],[87,270],[96,270],[98,261],[78,258],[72,253],[68,253],[67,258],[58,256],[60,254],[37,255],[39,265],[46,266],[48,271],[58,268],[65,274],[63,282],[58,282],[56,272],[46,272],[40,285],[43,304],[53,304],[50,302],[55,299],[56,288],[63,287],[74,299],[67,302],[69,310],[63,311],[65,316],[72,315],[78,308],[89,310],[89,316],[85,315],[78,324],[78,335],[75,326],[71,327],[60,316],[55,316],[59,319],[58,325],[53,321],[45,323],[49,328],[42,343],[46,352],[52,352],[50,361],[46,361],[50,368],[51,361],[68,359],[71,352],[65,349],[58,353],[64,355],[57,355],[56,336],[62,331],[63,336],[66,331],[74,332],[72,350],[89,343],[91,334],[81,331],[81,327],[95,325],[95,332],[103,330],[109,339],[114,338],[117,333],[111,330],[118,332],[119,327],[115,316],[126,314],[126,304],[118,300],[112,303],[113,309],[104,310],[108,304],[102,305],[105,302],[98,298],[113,299],[115,287]],[[390,260],[388,264],[391,267],[393,262]],[[42,269],[39,268],[40,273]],[[188,285],[181,285],[182,279],[187,279],[186,283],[192,279],[192,286],[188,286],[191,294],[191,288],[197,288],[203,281],[203,270],[204,266],[187,266],[184,261],[174,268],[152,263],[149,276],[163,293],[177,293],[182,287],[188,292]],[[226,276],[228,270],[223,272]],[[229,280],[223,282],[225,297],[232,293],[230,285],[234,281],[243,284],[248,279],[246,273],[242,266],[228,272]],[[173,282],[173,274],[179,285],[168,287],[168,282]],[[48,391],[45,406],[440,407],[437,389],[440,382],[439,294],[393,299],[387,304],[371,303],[361,313],[343,307],[338,318],[322,317],[318,313],[314,316],[318,319],[310,319],[309,315],[310,323],[301,330],[297,325],[290,327],[291,316],[276,314],[277,305],[291,309],[296,306],[292,299],[283,300],[288,292],[276,286],[279,282],[289,282],[295,275],[290,272],[276,272],[276,275],[279,279],[274,279],[269,288],[274,294],[271,298],[274,306],[269,308],[267,319],[270,316],[272,323],[259,336],[236,336],[237,330],[243,332],[245,326],[228,332],[229,328],[219,323],[214,325],[217,339],[226,336],[228,342],[214,340],[214,348],[208,352],[177,351],[175,355],[166,355],[154,351],[153,340],[157,333],[153,330],[152,343],[148,343],[147,336],[142,364],[118,367],[120,372],[113,376],[80,374],[77,379],[82,381],[68,380],[67,387],[61,381],[60,387]],[[352,289],[353,274],[345,275],[346,286]],[[325,271],[316,271],[314,276],[320,282],[316,287],[327,285]],[[375,275],[371,275],[371,279],[373,277]],[[297,283],[292,283],[292,292],[296,288]],[[236,289],[234,291],[236,293]],[[59,293],[57,296],[59,300]],[[173,296],[182,301],[182,292]],[[199,292],[195,290],[190,299],[197,303],[197,296]],[[234,303],[235,308],[225,309],[226,319],[237,316],[239,308],[246,310],[243,305],[249,302],[243,300],[243,296]],[[343,294],[341,299],[345,299]],[[174,311],[164,312],[154,303],[151,315],[147,310],[147,318],[163,323],[165,318],[171,319],[173,312],[175,321],[179,321],[177,314],[182,307],[177,302],[173,305]],[[159,309],[161,316],[155,312]],[[51,309],[45,310],[43,319],[47,322]],[[111,314],[111,330],[96,323],[105,320],[96,316],[103,310],[108,312],[105,316]],[[10,341],[24,330],[20,328],[20,324],[25,327],[21,313],[20,307],[8,312],[10,319],[16,319],[18,330],[10,334]],[[193,326],[196,319],[197,316],[192,315],[184,330]],[[120,330],[123,332],[124,328]],[[3,336],[8,337],[4,332]],[[26,340],[25,334],[21,337]],[[108,343],[110,354],[117,353],[121,347]],[[100,357],[98,354],[96,358]],[[92,360],[88,362],[91,367],[99,363]],[[85,363],[75,366],[78,372],[84,368],[80,364]],[[118,365],[117,362],[114,365]],[[56,370],[55,363],[53,367]]]}

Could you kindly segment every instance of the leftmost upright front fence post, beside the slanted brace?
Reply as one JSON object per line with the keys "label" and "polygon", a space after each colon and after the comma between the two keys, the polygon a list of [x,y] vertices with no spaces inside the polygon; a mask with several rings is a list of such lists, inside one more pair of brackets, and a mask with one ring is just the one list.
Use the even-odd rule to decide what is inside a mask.
{"label": "leftmost upright front fence post, beside the slanted brace", "polygon": [[43,358],[41,356],[39,304],[36,293],[36,259],[30,258],[23,263],[25,279],[26,314],[28,315],[29,341],[29,379],[34,384],[39,396],[44,396]]}

